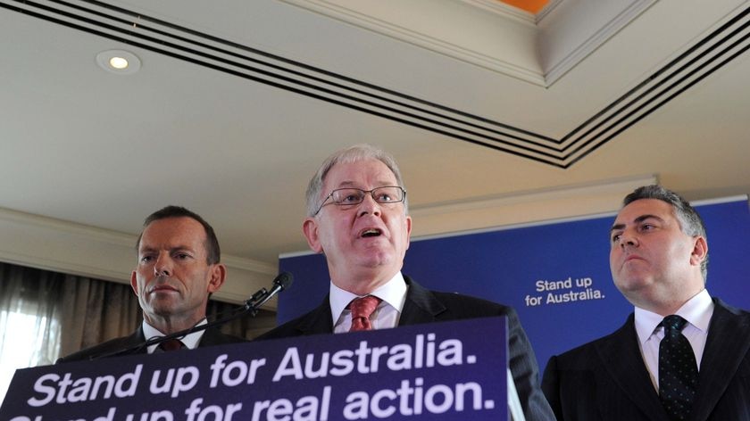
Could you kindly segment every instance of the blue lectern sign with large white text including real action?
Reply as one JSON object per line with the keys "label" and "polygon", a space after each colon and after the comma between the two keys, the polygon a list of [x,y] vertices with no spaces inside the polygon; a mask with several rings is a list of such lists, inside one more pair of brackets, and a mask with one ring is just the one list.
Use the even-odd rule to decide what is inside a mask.
{"label": "blue lectern sign with large white text including real action", "polygon": [[0,421],[507,420],[505,318],[18,370]]}

